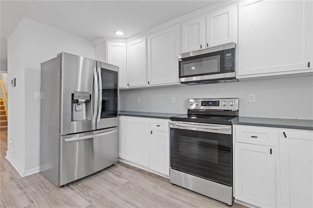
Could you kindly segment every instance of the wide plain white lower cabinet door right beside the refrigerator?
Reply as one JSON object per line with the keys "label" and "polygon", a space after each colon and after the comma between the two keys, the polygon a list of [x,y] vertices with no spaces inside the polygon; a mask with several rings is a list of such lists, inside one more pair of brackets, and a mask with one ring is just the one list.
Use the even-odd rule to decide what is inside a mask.
{"label": "wide plain white lower cabinet door right beside the refrigerator", "polygon": [[149,166],[149,120],[119,118],[118,156],[142,166]]}

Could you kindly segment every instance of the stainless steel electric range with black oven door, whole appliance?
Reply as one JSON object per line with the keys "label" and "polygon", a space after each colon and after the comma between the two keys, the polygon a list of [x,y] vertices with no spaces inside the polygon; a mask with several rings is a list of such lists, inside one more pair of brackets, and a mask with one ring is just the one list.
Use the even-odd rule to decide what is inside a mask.
{"label": "stainless steel electric range with black oven door, whole appliance", "polygon": [[171,117],[171,183],[231,206],[232,125],[238,98],[188,99],[188,114]]}

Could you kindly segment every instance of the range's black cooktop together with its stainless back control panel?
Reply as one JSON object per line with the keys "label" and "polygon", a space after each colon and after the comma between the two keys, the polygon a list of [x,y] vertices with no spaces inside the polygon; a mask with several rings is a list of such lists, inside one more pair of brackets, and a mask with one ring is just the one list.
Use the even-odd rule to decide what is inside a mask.
{"label": "range's black cooktop together with its stainless back control panel", "polygon": [[172,121],[231,125],[238,117],[239,99],[188,99],[188,114],[171,117]]}

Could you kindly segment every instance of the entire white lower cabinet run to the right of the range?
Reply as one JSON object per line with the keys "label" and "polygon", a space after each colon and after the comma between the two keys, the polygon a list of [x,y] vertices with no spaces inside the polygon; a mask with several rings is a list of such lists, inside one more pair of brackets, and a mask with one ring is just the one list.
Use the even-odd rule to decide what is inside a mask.
{"label": "entire white lower cabinet run to the right of the range", "polygon": [[313,208],[312,130],[233,125],[233,132],[236,200]]}

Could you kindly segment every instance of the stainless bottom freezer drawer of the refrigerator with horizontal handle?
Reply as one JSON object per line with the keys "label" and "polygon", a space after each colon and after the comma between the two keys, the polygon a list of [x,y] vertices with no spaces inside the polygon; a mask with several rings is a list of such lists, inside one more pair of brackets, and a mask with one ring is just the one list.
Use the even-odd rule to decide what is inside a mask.
{"label": "stainless bottom freezer drawer of the refrigerator with horizontal handle", "polygon": [[117,162],[118,127],[60,137],[59,186]]}

